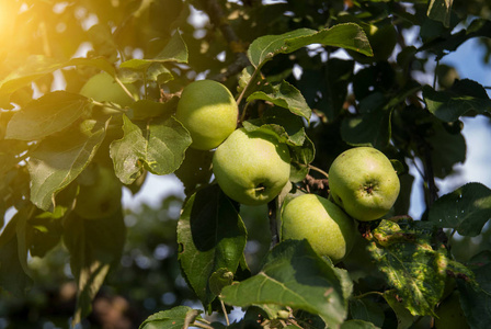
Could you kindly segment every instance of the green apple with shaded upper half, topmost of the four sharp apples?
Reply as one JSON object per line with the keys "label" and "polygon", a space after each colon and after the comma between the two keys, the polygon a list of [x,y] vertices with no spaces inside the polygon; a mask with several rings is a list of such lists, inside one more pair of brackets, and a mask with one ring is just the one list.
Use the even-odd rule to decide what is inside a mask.
{"label": "green apple with shaded upper half, topmost of the four sharp apples", "polygon": [[224,84],[198,80],[187,84],[175,117],[190,132],[192,148],[209,150],[220,145],[237,127],[239,110]]}

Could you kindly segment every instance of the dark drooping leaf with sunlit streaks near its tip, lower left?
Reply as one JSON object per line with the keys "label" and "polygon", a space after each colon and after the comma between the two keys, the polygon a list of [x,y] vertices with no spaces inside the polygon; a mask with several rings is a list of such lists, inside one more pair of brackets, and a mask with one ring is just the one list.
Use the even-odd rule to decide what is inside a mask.
{"label": "dark drooping leaf with sunlit streaks near its tip, lower left", "polygon": [[118,264],[126,238],[123,219],[122,209],[98,219],[83,219],[72,212],[65,223],[64,242],[78,286],[72,326],[90,314],[107,272]]}

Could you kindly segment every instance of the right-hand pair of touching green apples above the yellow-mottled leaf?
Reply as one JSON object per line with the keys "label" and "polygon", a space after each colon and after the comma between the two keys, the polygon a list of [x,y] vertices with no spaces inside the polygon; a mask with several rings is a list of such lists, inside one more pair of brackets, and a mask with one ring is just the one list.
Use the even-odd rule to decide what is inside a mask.
{"label": "right-hand pair of touching green apples above the yellow-mottled leaf", "polygon": [[284,206],[282,239],[307,239],[313,250],[336,263],[354,245],[356,220],[386,215],[399,195],[400,182],[382,152],[355,147],[332,162],[329,189],[329,200],[304,194]]}

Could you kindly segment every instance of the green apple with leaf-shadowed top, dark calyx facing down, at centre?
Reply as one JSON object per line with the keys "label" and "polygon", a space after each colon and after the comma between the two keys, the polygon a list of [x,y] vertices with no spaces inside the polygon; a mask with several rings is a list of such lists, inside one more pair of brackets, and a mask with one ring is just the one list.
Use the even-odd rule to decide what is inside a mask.
{"label": "green apple with leaf-shadowed top, dark calyx facing down, at centre", "polygon": [[213,173],[230,198],[260,205],[272,201],[289,180],[288,147],[264,132],[235,131],[213,157]]}

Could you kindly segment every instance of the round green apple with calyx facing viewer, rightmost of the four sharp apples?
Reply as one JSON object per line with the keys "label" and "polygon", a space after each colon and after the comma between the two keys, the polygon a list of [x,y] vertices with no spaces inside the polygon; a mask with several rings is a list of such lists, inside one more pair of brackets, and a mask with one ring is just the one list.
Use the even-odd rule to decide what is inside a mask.
{"label": "round green apple with calyx facing viewer, rightmost of the four sharp apples", "polygon": [[332,200],[358,220],[386,215],[396,202],[400,182],[390,160],[372,147],[341,154],[329,169]]}

